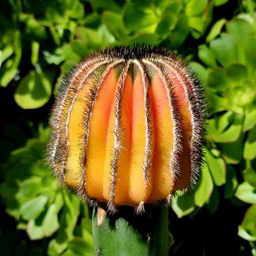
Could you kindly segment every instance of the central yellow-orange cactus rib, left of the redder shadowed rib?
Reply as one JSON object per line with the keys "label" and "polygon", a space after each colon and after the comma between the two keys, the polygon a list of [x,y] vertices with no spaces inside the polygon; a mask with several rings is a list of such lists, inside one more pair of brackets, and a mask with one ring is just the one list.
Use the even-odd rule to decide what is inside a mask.
{"label": "central yellow-orange cactus rib, left of the redder shadowed rib", "polygon": [[132,142],[129,177],[129,201],[133,204],[145,201],[151,192],[151,126],[148,115],[148,95],[145,73],[134,61],[134,88],[132,92]]}

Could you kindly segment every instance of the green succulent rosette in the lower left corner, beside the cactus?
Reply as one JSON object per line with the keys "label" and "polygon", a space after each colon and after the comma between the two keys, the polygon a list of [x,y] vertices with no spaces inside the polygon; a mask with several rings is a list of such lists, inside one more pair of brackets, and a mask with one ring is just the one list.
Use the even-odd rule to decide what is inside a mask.
{"label": "green succulent rosette in the lower left corner, beside the cactus", "polygon": [[[44,162],[46,145],[42,137],[47,135],[45,130],[41,132],[39,138],[12,151],[9,161],[1,166],[5,177],[0,195],[6,212],[15,218],[17,230],[25,230],[31,240],[47,241],[41,250],[47,250],[48,255],[93,255],[89,209],[72,194],[58,189]],[[15,241],[15,234],[8,239]],[[2,245],[2,252],[8,250],[4,247],[9,242]],[[25,249],[24,244],[17,244],[11,250],[19,254],[28,246]],[[32,253],[33,247],[30,250]]]}

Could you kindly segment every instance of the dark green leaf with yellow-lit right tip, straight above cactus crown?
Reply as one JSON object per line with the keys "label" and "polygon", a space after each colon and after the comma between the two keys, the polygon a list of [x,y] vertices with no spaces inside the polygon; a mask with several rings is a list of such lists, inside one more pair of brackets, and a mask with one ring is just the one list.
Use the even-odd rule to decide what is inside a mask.
{"label": "dark green leaf with yellow-lit right tip, straight above cactus crown", "polygon": [[124,9],[123,21],[127,30],[138,31],[146,26],[156,25],[158,17],[151,8],[142,8],[139,4],[129,3]]}

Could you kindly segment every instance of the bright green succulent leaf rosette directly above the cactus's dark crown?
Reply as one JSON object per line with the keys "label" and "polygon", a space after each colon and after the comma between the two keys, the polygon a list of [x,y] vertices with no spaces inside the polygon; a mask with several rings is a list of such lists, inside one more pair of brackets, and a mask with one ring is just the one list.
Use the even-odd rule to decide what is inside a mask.
{"label": "bright green succulent leaf rosette directly above the cactus's dark crown", "polygon": [[[95,11],[102,10],[102,1],[91,1]],[[132,0],[117,8],[113,0],[103,13],[103,23],[121,44],[164,44],[174,49],[188,34],[200,38],[212,22],[214,6],[228,2],[208,0],[139,1]]]}

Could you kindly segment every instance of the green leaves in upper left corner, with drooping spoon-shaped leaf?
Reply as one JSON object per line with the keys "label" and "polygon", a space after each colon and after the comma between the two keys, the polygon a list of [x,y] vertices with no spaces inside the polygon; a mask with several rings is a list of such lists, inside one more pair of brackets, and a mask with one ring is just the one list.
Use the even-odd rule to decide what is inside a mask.
{"label": "green leaves in upper left corner, with drooping spoon-shaped leaf", "polygon": [[40,108],[52,95],[57,75],[56,60],[47,62],[47,54],[73,39],[84,6],[78,0],[10,0],[0,9],[0,86],[12,83],[15,102],[23,109]]}

